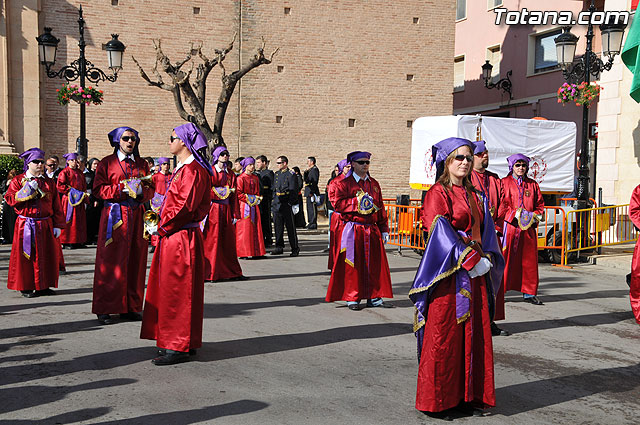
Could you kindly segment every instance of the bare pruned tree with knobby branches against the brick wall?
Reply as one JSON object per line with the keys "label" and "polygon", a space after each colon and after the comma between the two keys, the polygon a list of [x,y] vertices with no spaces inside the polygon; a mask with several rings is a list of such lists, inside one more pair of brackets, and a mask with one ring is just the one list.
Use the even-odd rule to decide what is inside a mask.
{"label": "bare pruned tree with knobby branches against the brick wall", "polygon": [[[153,75],[155,80],[152,80],[149,75],[142,69],[142,66],[138,63],[135,57],[131,57],[140,70],[142,78],[153,87],[159,87],[163,90],[173,93],[173,100],[176,104],[176,109],[180,117],[188,122],[196,124],[209,140],[209,147],[214,149],[217,146],[226,146],[224,139],[222,138],[222,125],[224,124],[224,116],[229,106],[229,100],[233,95],[233,90],[236,88],[236,84],[244,75],[254,68],[260,65],[270,64],[273,57],[278,53],[280,48],[271,53],[268,58],[264,54],[265,41],[262,39],[262,46],[256,51],[256,54],[251,58],[249,62],[242,66],[237,71],[227,74],[224,67],[224,59],[227,54],[233,49],[233,45],[236,41],[237,33],[233,35],[233,39],[227,47],[224,49],[215,50],[215,56],[209,59],[202,52],[202,44],[194,45],[191,43],[191,50],[187,57],[181,61],[171,63],[171,60],[162,52],[161,40],[153,40],[153,47],[156,50],[156,63],[153,67]],[[195,58],[200,58],[201,63],[196,64]],[[190,68],[185,67],[188,63],[191,63]],[[222,69],[222,88],[220,95],[218,96],[218,106],[216,108],[216,115],[213,121],[213,129],[209,125],[209,121],[205,115],[205,103],[207,95],[207,77],[211,70],[218,65]],[[184,68],[184,69],[183,69]],[[188,69],[187,69],[188,68]],[[195,77],[193,82],[191,77],[195,70]],[[163,71],[171,78],[170,82],[165,82],[160,71]],[[189,106],[191,113],[189,114],[184,104]]]}

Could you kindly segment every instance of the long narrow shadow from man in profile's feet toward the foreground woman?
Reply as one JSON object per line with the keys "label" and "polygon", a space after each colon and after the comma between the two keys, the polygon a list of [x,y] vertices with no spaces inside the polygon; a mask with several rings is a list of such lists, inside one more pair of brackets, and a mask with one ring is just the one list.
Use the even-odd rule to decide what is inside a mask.
{"label": "long narrow shadow from man in profile's feet toward the foreground woman", "polygon": [[412,325],[408,323],[378,323],[371,325],[345,326],[286,335],[269,335],[255,338],[237,339],[223,342],[205,342],[198,351],[196,361],[211,362],[258,354],[278,353],[300,348],[334,344],[343,341],[384,338],[410,334]]}

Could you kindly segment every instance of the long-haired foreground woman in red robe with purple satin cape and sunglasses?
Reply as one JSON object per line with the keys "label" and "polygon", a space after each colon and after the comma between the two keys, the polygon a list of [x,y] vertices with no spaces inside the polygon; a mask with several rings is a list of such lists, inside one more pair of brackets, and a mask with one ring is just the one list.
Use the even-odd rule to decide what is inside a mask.
{"label": "long-haired foreground woman in red robe with purple satin cape and sunglasses", "polygon": [[[428,242],[409,296],[416,304],[420,360],[416,409],[446,419],[449,409],[475,414],[495,406],[493,294],[484,275],[499,263],[500,276],[493,279],[499,285],[502,258],[493,221],[469,178],[472,143],[453,137],[433,150],[438,178],[422,206]],[[493,257],[483,252],[485,240],[492,242]]]}

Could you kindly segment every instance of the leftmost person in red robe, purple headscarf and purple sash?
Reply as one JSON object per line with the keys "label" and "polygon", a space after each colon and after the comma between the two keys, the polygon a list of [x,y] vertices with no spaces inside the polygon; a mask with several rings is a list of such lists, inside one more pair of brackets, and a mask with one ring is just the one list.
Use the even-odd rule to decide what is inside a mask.
{"label": "leftmost person in red robe, purple headscarf and purple sash", "polygon": [[33,298],[55,295],[60,264],[60,229],[65,226],[55,179],[44,175],[44,151],[20,155],[24,172],[11,180],[4,199],[17,214],[7,287]]}

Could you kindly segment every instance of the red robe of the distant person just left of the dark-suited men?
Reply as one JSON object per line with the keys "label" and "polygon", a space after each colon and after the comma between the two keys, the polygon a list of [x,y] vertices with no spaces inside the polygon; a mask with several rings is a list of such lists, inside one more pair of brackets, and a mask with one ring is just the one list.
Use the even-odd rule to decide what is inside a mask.
{"label": "red robe of the distant person just left of the dark-suited men", "polygon": [[238,257],[261,257],[266,254],[262,222],[258,204],[247,203],[247,195],[260,196],[260,178],[242,173],[236,179],[236,191],[241,219],[236,223],[236,250]]}

